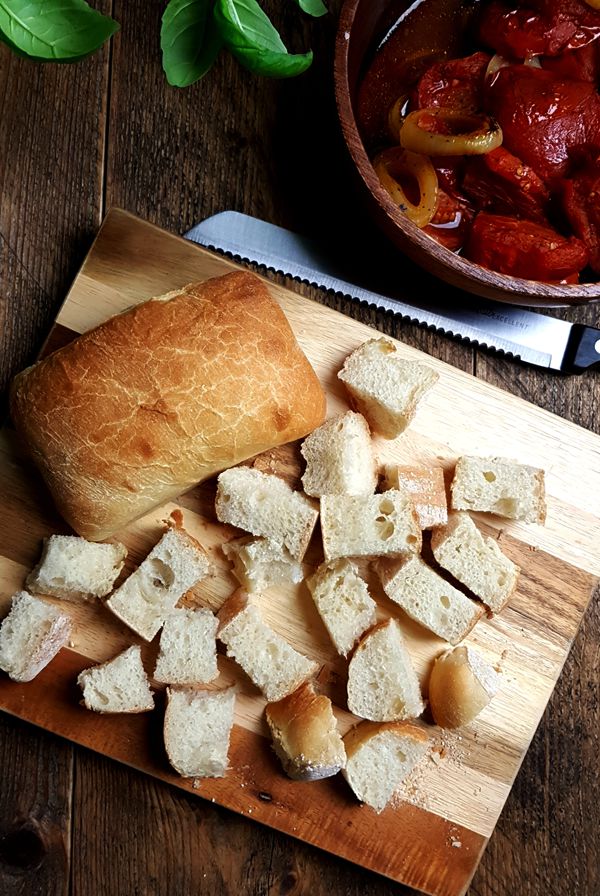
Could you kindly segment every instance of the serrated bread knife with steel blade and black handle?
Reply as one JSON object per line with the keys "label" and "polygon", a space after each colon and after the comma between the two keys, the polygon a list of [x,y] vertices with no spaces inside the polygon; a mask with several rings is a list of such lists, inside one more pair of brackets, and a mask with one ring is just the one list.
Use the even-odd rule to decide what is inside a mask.
{"label": "serrated bread knife with steel blade and black handle", "polygon": [[581,373],[600,365],[600,329],[470,296],[426,275],[427,283],[435,282],[435,288],[444,290],[443,302],[426,288],[417,295],[415,283],[403,283],[400,297],[382,295],[346,280],[315,241],[250,215],[220,212],[185,236],[236,260],[391,311],[410,323],[526,364],[561,373]]}

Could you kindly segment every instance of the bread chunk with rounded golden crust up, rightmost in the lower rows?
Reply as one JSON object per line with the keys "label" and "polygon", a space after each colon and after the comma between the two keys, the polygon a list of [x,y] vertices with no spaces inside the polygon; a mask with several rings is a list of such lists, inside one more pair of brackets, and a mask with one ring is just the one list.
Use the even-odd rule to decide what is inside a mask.
{"label": "bread chunk with rounded golden crust up, rightmost in the lower rows", "polygon": [[498,691],[500,676],[472,647],[439,656],[429,677],[429,705],[442,728],[467,725]]}

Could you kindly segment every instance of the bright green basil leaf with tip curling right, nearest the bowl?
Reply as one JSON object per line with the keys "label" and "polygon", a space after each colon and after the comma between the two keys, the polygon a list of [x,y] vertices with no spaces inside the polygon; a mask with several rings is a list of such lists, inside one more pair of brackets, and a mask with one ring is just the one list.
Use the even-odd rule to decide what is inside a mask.
{"label": "bright green basil leaf with tip curling right, nearest the bowl", "polygon": [[256,0],[216,0],[215,20],[235,58],[251,72],[292,78],[312,62],[312,52],[288,53],[279,32]]}

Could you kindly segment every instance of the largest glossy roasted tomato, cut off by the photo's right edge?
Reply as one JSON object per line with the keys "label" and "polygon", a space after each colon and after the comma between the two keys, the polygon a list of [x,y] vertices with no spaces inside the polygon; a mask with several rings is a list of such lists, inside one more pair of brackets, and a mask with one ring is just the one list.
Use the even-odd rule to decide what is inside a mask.
{"label": "largest glossy roasted tomato, cut off by the photo's right edge", "polygon": [[600,148],[600,98],[593,84],[527,65],[500,69],[487,88],[504,146],[550,185],[571,155]]}

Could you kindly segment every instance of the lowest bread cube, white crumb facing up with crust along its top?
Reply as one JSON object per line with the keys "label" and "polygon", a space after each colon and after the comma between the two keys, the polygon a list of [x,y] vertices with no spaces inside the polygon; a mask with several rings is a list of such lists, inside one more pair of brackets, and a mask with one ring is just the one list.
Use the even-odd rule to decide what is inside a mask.
{"label": "lowest bread cube, white crumb facing up with crust along its top", "polygon": [[410,722],[361,722],[344,737],[342,774],[357,798],[382,812],[425,757],[429,738]]}

